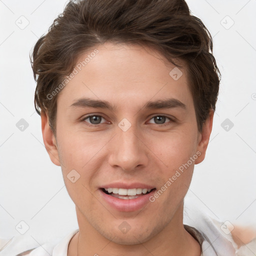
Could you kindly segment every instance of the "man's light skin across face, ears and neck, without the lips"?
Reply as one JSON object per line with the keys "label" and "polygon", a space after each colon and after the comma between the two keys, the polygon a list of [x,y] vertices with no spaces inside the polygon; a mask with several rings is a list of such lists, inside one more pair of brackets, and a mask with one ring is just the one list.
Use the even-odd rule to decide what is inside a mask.
{"label": "man's light skin across face, ears and neck, without the lips", "polygon": [[[61,166],[76,206],[79,232],[69,243],[68,256],[77,255],[77,246],[84,256],[198,256],[198,242],[183,227],[183,198],[194,164],[204,159],[213,113],[199,132],[185,65],[174,80],[169,72],[175,66],[148,47],[107,42],[96,48],[96,56],[57,95],[56,137],[41,114],[46,150]],[[115,108],[74,104],[81,98]],[[149,101],[167,99],[184,106],[172,101],[169,108],[146,107]],[[102,116],[97,117],[100,123],[93,124],[90,114]],[[126,131],[118,126],[123,118],[131,123]],[[142,182],[158,190],[196,152],[200,155],[192,164],[140,210],[118,211],[100,194],[102,184],[114,181]],[[74,183],[67,178],[72,169],[80,175]],[[123,221],[131,227],[126,233],[118,228]]]}

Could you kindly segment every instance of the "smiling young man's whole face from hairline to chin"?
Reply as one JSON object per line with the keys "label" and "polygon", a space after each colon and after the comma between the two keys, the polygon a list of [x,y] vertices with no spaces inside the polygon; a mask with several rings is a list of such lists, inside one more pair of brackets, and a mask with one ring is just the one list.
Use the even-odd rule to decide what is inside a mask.
{"label": "smiling young man's whole face from hairline to chin", "polygon": [[[179,68],[181,76],[176,69],[169,74],[174,65],[138,45],[96,48],[96,54],[80,55],[77,64],[93,57],[78,65],[81,70],[76,67],[58,94],[57,153],[51,159],[61,163],[78,223],[117,243],[136,244],[171,219],[182,221],[194,164],[204,157],[201,134],[185,68]],[[154,189],[119,199],[103,191],[113,187]]]}

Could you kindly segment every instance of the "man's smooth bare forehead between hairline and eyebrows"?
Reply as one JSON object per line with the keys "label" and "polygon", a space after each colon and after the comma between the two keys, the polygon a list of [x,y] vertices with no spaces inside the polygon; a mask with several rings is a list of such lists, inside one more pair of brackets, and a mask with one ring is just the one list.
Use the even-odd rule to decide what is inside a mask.
{"label": "man's smooth bare forehead between hairline and eyebrows", "polygon": [[176,67],[146,46],[98,45],[79,55],[73,73],[58,99],[69,105],[79,97],[126,106],[164,97],[192,103],[185,65]]}

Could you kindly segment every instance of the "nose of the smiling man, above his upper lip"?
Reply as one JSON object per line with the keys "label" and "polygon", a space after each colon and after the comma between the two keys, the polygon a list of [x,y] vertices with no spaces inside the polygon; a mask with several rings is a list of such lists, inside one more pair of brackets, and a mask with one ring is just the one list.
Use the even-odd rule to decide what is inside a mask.
{"label": "nose of the smiling man, above his upper lip", "polygon": [[136,132],[134,127],[127,131],[117,129],[117,134],[111,140],[109,164],[125,171],[132,171],[148,163],[147,147],[143,137]]}

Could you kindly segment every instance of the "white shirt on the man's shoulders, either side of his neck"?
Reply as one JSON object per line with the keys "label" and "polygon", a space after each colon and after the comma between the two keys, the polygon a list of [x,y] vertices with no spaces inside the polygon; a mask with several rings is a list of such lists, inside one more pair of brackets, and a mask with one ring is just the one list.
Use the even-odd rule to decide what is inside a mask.
{"label": "white shirt on the man's shoulders, either side of his neck", "polygon": [[[224,221],[223,221],[224,222]],[[213,219],[201,212],[193,204],[184,204],[183,224],[185,229],[198,240],[201,256],[254,256],[256,255],[256,238],[237,248],[231,233],[223,222]],[[17,235],[12,239],[0,238],[0,256],[17,256],[31,250],[29,256],[67,256],[67,247],[78,229],[73,230],[62,239],[50,243],[38,243],[30,235]],[[7,243],[7,244],[6,244]]]}

